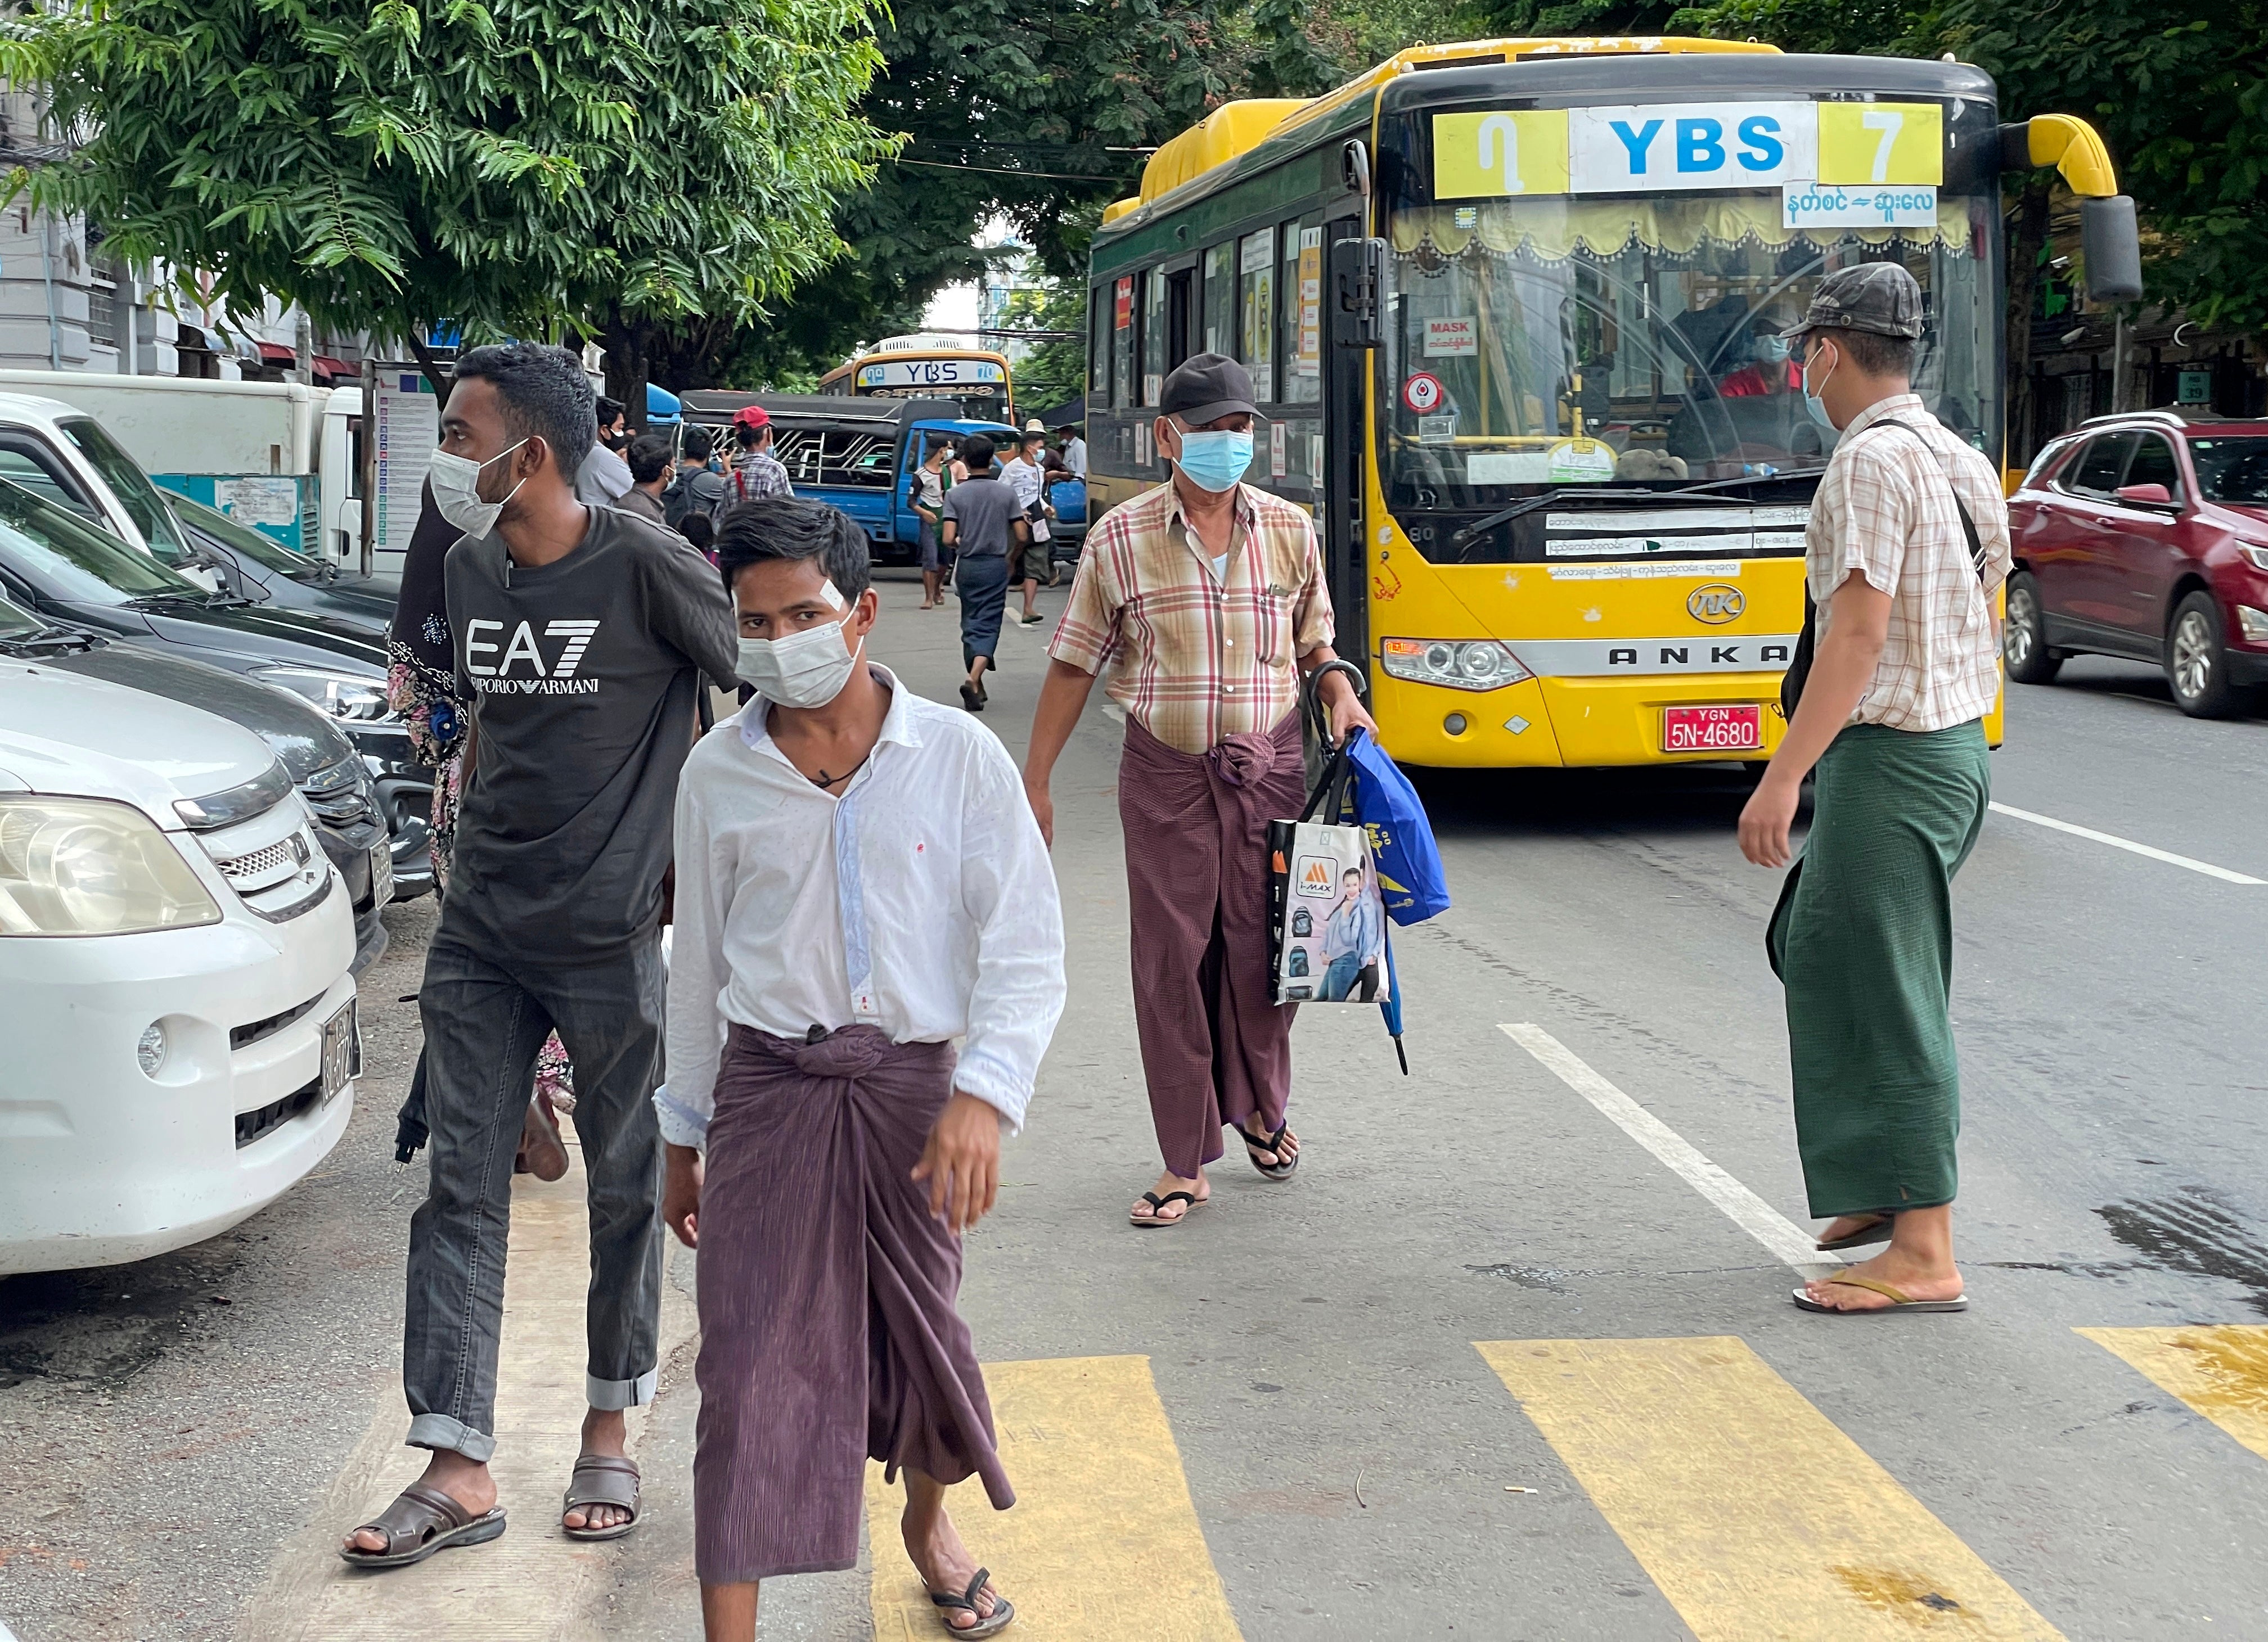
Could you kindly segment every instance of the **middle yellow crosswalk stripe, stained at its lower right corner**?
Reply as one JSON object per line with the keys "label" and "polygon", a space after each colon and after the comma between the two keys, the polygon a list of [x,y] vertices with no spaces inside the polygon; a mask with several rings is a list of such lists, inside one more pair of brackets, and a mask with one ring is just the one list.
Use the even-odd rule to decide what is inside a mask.
{"label": "middle yellow crosswalk stripe, stained at its lower right corner", "polygon": [[1742,1340],[1476,1349],[1701,1642],[2059,1635]]}

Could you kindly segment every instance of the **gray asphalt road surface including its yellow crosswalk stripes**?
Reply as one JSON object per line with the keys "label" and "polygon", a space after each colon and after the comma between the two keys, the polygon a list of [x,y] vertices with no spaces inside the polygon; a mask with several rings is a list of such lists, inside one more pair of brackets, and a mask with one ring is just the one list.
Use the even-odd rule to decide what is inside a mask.
{"label": "gray asphalt road surface including its yellow crosswalk stripes", "polygon": [[[953,608],[916,594],[885,585],[873,649],[950,699]],[[1018,755],[1039,633],[1005,640],[987,714]],[[1023,1501],[959,1517],[1021,1633],[2268,1637],[2268,885],[2232,882],[2268,880],[2268,721],[2189,721],[2118,662],[2012,689],[1994,798],[2023,814],[1955,891],[1957,1318],[1787,1302],[1785,1222],[1810,1220],[1762,957],[1778,875],[1733,846],[1730,769],[1424,780],[1456,907],[1397,943],[1413,1075],[1372,1012],[1306,1009],[1300,1175],[1232,1157],[1195,1220],[1129,1229],[1157,1154],[1116,739],[1098,694],[1057,787],[1070,1009],[968,1245]],[[200,1250],[0,1281],[0,1619],[25,1642],[345,1635],[304,1615],[388,1590],[429,1635],[699,1635],[685,1352],[640,1533],[569,1554],[535,1544],[556,1492],[508,1499],[569,1583],[490,1551],[379,1594],[320,1567],[356,1456],[388,1488],[415,1467],[386,1445],[422,1170],[390,1136],[431,905],[390,923],[313,1179]],[[513,1259],[553,1270],[517,1229]],[[875,1551],[769,1588],[764,1635],[934,1633]]]}

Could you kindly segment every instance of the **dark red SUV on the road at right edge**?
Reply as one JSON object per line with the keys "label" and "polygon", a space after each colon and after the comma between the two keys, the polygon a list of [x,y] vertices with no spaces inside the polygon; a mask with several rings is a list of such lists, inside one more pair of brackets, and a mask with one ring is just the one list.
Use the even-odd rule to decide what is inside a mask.
{"label": "dark red SUV on the road at right edge", "polygon": [[2077,651],[2166,669],[2198,719],[2268,683],[2268,422],[2096,417],[2007,499],[2007,676],[2046,685]]}

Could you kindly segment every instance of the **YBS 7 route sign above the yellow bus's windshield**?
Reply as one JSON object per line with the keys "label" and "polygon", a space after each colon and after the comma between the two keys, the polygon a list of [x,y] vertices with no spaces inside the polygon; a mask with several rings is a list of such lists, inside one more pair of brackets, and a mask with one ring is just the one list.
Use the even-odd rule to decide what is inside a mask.
{"label": "YBS 7 route sign above the yellow bus's windshield", "polygon": [[1944,179],[1935,102],[1642,102],[1433,116],[1433,195]]}

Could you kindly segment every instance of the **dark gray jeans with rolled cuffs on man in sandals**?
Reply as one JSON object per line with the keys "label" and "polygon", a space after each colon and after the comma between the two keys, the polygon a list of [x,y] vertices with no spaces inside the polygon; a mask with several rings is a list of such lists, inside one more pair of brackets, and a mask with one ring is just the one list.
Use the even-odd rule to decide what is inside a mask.
{"label": "dark gray jeans with rolled cuffs on man in sandals", "polygon": [[494,964],[447,925],[417,993],[426,1034],[431,1186],[411,1216],[401,1388],[411,1447],[485,1461],[494,1447],[503,1245],[513,1154],[535,1052],[560,1034],[576,1068],[576,1139],[590,1193],[592,1408],[653,1399],[662,1302],[662,946],[601,964]]}

